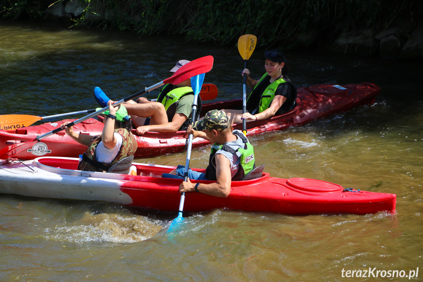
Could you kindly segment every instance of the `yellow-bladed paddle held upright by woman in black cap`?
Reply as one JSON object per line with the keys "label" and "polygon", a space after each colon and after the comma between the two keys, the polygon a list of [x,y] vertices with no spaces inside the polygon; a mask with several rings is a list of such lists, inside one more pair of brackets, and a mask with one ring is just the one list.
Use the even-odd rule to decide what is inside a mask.
{"label": "yellow-bladed paddle held upright by woman in black cap", "polygon": [[[252,34],[244,34],[238,39],[238,51],[244,59],[244,69],[247,69],[248,59],[254,51],[257,37]],[[247,112],[247,76],[244,76],[243,96],[242,96],[242,113]],[[242,132],[247,135],[247,121],[242,120]]]}

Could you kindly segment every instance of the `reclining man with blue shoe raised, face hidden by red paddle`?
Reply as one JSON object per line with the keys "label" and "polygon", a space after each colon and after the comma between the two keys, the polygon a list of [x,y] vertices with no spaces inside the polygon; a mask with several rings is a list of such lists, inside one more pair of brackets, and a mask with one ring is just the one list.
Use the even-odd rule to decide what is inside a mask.
{"label": "reclining man with blue shoe raised, face hidden by red paddle", "polygon": [[[189,63],[180,60],[170,72],[175,73],[180,67]],[[94,88],[94,97],[101,106],[105,107],[111,101],[100,87]],[[111,103],[115,103],[112,101]],[[194,103],[194,92],[191,88],[191,79],[186,79],[178,84],[166,84],[157,102],[148,101],[141,97],[137,103],[130,100],[124,105],[131,115],[131,119],[137,128],[137,133],[142,135],[147,131],[176,132],[185,130],[191,124],[191,111]],[[199,110],[201,101],[199,98]]]}

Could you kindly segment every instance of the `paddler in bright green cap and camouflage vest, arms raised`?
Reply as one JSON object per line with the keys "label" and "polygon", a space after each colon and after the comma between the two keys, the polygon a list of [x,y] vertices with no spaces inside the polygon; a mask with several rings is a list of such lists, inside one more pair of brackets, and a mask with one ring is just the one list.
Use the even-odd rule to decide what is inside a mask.
{"label": "paddler in bright green cap and camouflage vest, arms raised", "polygon": [[100,136],[75,133],[72,127],[66,127],[69,122],[61,126],[72,139],[88,147],[79,161],[78,170],[107,172],[112,164],[137,150],[137,141],[131,133],[131,119],[124,105],[113,107],[110,104],[102,115],[104,127]]}

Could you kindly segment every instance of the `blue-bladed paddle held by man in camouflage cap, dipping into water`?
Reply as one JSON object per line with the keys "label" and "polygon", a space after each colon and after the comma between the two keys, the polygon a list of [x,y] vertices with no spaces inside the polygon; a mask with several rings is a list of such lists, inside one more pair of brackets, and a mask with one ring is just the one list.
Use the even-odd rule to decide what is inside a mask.
{"label": "blue-bladed paddle held by man in camouflage cap, dipping into water", "polygon": [[[191,117],[192,121],[195,121],[195,118],[196,118],[197,100],[198,100],[199,91],[201,89],[201,85],[202,85],[203,81],[204,81],[204,74],[200,74],[200,75],[197,75],[197,76],[191,78],[191,87],[194,91],[194,103],[193,103],[193,111],[192,111],[192,117]],[[189,136],[188,136],[188,148],[187,148],[187,159],[185,161],[184,181],[188,180],[188,169],[189,169],[189,166],[190,166],[192,145],[193,145],[193,134],[189,134]],[[178,216],[174,219],[174,221],[169,226],[168,233],[174,232],[175,229],[177,229],[178,225],[182,223],[182,221],[183,221],[182,211],[184,209],[184,202],[185,202],[185,192],[182,192],[181,193],[181,199],[179,201]]]}

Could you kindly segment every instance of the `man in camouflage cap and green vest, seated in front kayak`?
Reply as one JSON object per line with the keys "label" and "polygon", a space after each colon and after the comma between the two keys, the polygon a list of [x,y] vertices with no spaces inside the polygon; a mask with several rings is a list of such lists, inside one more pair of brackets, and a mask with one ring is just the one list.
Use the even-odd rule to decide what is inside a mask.
{"label": "man in camouflage cap and green vest, seated in front kayak", "polygon": [[[188,181],[182,182],[179,192],[200,192],[208,195],[227,197],[231,180],[241,180],[255,166],[254,149],[240,130],[233,130],[227,115],[222,110],[207,112],[203,120],[189,126],[188,134],[201,137],[213,144],[209,165],[205,173],[189,169]],[[163,177],[183,179],[184,166],[178,166],[171,174]],[[190,179],[216,180],[215,183],[192,183]]]}

